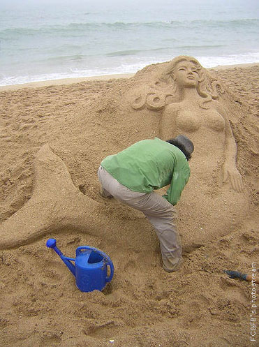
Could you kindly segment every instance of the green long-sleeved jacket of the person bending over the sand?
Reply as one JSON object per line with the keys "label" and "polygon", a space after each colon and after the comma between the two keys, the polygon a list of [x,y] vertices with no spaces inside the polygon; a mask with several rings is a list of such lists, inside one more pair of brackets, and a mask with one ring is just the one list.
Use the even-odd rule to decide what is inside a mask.
{"label": "green long-sleeved jacket of the person bending over the sand", "polygon": [[163,197],[172,205],[179,201],[190,177],[190,167],[182,151],[159,138],[136,142],[103,159],[101,165],[131,191],[151,193],[170,184]]}

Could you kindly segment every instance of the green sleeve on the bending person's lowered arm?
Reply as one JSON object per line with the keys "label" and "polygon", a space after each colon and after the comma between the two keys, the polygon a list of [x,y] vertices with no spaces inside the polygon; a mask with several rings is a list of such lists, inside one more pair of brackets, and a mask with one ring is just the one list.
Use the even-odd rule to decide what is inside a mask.
{"label": "green sleeve on the bending person's lowered arm", "polygon": [[170,184],[170,187],[165,195],[163,195],[163,198],[168,200],[170,204],[176,205],[177,202],[180,200],[182,191],[184,190],[184,187],[186,183],[188,182],[188,179],[190,177],[190,168],[188,163],[184,165],[180,170],[177,170],[175,168],[174,173],[172,174],[172,181]]}

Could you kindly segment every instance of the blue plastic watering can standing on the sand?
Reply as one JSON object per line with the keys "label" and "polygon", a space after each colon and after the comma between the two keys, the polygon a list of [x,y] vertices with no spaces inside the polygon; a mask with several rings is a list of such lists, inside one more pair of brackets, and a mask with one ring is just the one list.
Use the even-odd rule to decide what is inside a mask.
{"label": "blue plastic watering can standing on the sand", "polygon": [[[64,256],[57,248],[56,239],[48,239],[46,246],[54,249],[68,269],[71,270],[75,276],[77,288],[81,292],[103,290],[106,283],[112,280],[114,272],[112,260],[99,249],[90,246],[77,247],[75,259],[73,259]],[[75,265],[71,262],[75,262]],[[110,266],[110,276],[108,276],[108,266]]]}

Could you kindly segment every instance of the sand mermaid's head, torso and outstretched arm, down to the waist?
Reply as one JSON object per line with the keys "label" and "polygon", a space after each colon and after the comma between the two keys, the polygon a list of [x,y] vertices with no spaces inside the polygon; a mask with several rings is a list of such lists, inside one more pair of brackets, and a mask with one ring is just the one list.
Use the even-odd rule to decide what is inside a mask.
{"label": "sand mermaid's head, torso and outstretched arm, down to the waist", "polygon": [[242,177],[236,167],[237,145],[228,115],[215,94],[206,85],[205,69],[196,59],[177,57],[171,61],[165,77],[172,80],[179,102],[165,108],[161,119],[161,136],[188,133],[195,142],[196,173],[204,182],[219,172],[223,164],[223,182],[243,191]]}

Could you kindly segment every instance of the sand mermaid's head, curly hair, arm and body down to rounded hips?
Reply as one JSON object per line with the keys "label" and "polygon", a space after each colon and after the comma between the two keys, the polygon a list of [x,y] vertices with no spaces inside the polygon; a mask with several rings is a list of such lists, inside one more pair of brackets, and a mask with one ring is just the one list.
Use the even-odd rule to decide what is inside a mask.
{"label": "sand mermaid's head, curly hair, arm and body down to rounded hips", "polygon": [[228,234],[249,208],[236,166],[237,145],[221,102],[224,89],[193,57],[176,57],[155,75],[145,91],[131,94],[131,107],[157,111],[161,139],[184,133],[195,144],[179,225],[187,249],[198,247]]}

